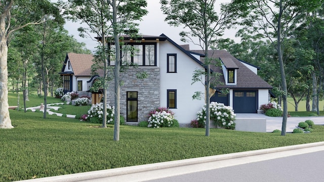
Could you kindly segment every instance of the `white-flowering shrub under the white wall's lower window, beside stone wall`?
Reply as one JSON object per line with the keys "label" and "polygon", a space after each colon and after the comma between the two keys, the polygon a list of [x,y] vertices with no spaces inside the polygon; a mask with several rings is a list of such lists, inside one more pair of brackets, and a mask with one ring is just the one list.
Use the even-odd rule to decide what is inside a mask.
{"label": "white-flowering shrub under the white wall's lower window, beside stone wall", "polygon": [[147,127],[170,127],[174,123],[174,112],[166,107],[159,107],[149,112]]}

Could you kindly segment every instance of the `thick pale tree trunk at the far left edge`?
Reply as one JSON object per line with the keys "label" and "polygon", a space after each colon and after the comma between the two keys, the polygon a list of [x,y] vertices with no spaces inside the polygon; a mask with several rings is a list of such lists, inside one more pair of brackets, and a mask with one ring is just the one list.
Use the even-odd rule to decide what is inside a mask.
{"label": "thick pale tree trunk at the far left edge", "polygon": [[1,44],[0,44],[0,128],[13,128],[8,105],[8,45],[6,39],[6,14],[2,10],[0,16]]}

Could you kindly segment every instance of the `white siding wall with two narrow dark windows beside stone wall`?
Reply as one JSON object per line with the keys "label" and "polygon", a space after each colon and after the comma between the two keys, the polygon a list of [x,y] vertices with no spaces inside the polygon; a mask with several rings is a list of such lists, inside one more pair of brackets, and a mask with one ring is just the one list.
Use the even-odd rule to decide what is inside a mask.
{"label": "white siding wall with two narrow dark windows beside stone wall", "polygon": [[[177,73],[167,73],[167,54],[177,54]],[[196,118],[196,113],[205,104],[204,99],[192,100],[195,92],[205,93],[205,86],[200,83],[191,85],[193,71],[203,69],[201,65],[176,48],[169,41],[159,43],[160,67],[160,106],[167,107],[167,90],[177,90],[177,109],[175,113],[180,124],[190,124]],[[205,78],[203,78],[205,82]]]}

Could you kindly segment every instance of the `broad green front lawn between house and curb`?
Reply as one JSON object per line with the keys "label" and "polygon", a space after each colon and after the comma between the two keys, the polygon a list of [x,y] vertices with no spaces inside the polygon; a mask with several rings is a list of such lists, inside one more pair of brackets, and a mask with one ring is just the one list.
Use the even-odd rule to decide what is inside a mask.
{"label": "broad green front lawn between house and curb", "polygon": [[[76,119],[10,111],[13,129],[0,132],[0,181],[14,181],[324,141],[324,126],[307,134],[204,128],[100,128]],[[4,150],[5,149],[5,150]]]}

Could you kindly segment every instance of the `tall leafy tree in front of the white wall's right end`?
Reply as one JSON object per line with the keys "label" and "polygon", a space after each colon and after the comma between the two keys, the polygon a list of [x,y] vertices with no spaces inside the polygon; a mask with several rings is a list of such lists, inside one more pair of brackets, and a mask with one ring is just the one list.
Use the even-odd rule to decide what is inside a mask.
{"label": "tall leafy tree in front of the white wall's right end", "polygon": [[[215,10],[215,0],[161,0],[161,10],[167,15],[165,21],[172,26],[183,26],[189,31],[180,32],[182,41],[191,41],[201,47],[205,53],[206,72],[199,74],[206,76],[205,101],[206,108],[206,136],[210,135],[210,92],[211,87],[211,64],[216,60],[209,59],[209,50],[217,47],[218,39],[225,29],[234,25],[235,16],[240,8],[232,4],[222,4],[220,13]],[[195,41],[194,39],[198,39]],[[198,72],[194,73],[193,81],[197,80]]]}

